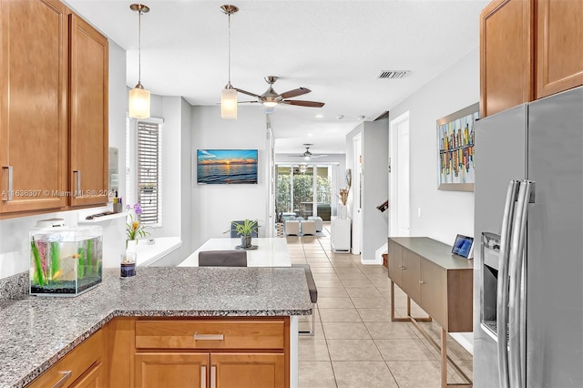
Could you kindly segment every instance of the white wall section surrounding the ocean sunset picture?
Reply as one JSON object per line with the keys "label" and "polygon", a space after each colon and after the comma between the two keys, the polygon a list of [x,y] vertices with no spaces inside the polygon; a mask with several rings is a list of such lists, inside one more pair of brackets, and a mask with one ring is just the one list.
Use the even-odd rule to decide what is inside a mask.
{"label": "white wall section surrounding the ocean sunset picture", "polygon": [[[259,220],[265,236],[268,212],[268,168],[270,148],[262,107],[239,107],[236,120],[220,118],[220,107],[192,107],[192,174],[184,184],[192,186],[192,250],[213,237],[225,237],[231,220]],[[208,148],[258,149],[258,184],[199,185],[196,183],[196,151]]]}

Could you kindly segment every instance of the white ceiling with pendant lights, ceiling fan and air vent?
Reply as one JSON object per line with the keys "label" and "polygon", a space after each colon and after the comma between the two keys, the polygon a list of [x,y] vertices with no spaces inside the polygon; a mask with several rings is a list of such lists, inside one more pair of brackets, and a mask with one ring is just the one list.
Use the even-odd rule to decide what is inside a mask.
{"label": "white ceiling with pendant lights, ceiling fan and air vent", "polygon": [[[232,1],[232,3],[229,3]],[[308,87],[295,99],[322,108],[280,105],[271,115],[276,151],[343,153],[344,135],[414,93],[478,46],[479,13],[488,0],[144,0],[141,81],[152,93],[216,105],[228,80],[257,94],[266,76],[282,93]],[[127,52],[127,84],[138,82],[138,14],[129,0],[66,0]],[[377,79],[383,70],[411,70],[403,79]],[[439,96],[435,96],[439,98]],[[239,95],[239,100],[252,97]],[[261,109],[259,104],[254,104]],[[314,117],[322,114],[322,118]],[[343,117],[343,119],[338,119]]]}

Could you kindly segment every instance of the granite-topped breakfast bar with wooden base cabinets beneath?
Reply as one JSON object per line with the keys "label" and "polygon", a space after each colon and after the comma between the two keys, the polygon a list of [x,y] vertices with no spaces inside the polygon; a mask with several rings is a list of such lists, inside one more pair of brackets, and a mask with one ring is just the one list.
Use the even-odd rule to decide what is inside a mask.
{"label": "granite-topped breakfast bar with wooden base cabinets beneath", "polygon": [[[297,386],[297,318],[312,313],[302,269],[137,272],[120,278],[119,270],[104,270],[101,284],[75,298],[23,293],[0,301],[0,386],[53,386],[94,374],[103,386],[138,387],[144,378],[200,386],[229,379],[233,367]],[[86,364],[61,368],[72,361],[77,369]]]}

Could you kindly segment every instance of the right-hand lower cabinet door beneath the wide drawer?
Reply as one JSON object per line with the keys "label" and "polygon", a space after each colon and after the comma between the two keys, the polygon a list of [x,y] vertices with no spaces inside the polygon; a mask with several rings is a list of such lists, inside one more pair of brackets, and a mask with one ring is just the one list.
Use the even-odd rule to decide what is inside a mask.
{"label": "right-hand lower cabinet door beneath the wide drawer", "polygon": [[210,353],[210,386],[274,388],[289,386],[281,353]]}

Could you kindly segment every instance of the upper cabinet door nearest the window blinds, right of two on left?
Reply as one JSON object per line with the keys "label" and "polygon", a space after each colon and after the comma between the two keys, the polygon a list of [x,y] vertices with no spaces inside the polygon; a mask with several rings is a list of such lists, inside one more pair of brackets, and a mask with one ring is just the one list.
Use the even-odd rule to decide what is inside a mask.
{"label": "upper cabinet door nearest the window blinds, right of two on left", "polygon": [[107,202],[107,39],[71,15],[70,205]]}

